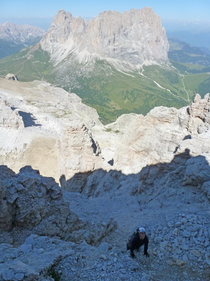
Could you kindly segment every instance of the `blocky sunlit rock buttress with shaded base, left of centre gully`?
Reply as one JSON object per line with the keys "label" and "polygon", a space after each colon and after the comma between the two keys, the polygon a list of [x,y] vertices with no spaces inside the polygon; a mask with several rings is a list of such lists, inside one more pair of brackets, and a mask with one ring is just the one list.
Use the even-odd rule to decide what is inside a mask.
{"label": "blocky sunlit rock buttress with shaded base, left of centre gully", "polygon": [[101,149],[94,141],[91,130],[83,123],[71,124],[63,130],[59,141],[61,186],[67,191],[82,192],[87,178],[108,163],[101,156]]}

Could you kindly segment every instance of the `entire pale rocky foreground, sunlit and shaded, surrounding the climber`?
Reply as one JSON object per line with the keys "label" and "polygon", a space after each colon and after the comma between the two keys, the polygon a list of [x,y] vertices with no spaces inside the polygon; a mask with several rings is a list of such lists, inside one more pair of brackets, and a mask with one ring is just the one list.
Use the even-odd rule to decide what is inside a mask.
{"label": "entire pale rocky foreground, sunlit and shaded, surrounding the climber", "polygon": [[0,100],[2,281],[209,280],[209,94],[106,126],[42,81],[1,79]]}

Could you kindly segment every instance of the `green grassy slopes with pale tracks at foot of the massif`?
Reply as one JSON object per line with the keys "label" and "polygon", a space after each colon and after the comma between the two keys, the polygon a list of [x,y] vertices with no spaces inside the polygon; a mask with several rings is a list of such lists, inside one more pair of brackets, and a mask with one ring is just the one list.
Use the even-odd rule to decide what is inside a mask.
{"label": "green grassy slopes with pale tracks at foot of the massif", "polygon": [[121,72],[107,61],[80,65],[69,58],[54,67],[39,44],[0,59],[0,76],[8,73],[21,81],[45,80],[76,93],[98,111],[104,124],[123,113],[146,115],[155,106],[180,108],[196,93],[204,96],[210,89],[207,66],[171,60],[171,66]]}

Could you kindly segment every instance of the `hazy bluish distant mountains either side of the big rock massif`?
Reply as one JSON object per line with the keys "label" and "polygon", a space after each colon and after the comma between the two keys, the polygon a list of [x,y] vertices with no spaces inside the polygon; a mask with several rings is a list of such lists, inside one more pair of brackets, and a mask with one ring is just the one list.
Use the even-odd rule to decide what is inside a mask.
{"label": "hazy bluish distant mountains either side of the big rock massif", "polygon": [[[210,54],[210,24],[166,20],[162,20],[162,22],[169,38],[170,49],[172,44],[170,38],[177,38],[181,42],[186,42],[186,44],[198,47],[201,51]],[[18,25],[10,22],[0,24],[0,58],[39,42],[45,33],[46,31],[38,26]]]}

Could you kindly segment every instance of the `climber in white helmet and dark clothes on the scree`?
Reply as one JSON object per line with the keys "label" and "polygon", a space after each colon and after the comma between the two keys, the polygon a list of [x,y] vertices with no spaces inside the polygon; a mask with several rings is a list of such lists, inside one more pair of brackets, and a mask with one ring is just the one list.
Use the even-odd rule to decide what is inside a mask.
{"label": "climber in white helmet and dark clothes on the scree", "polygon": [[148,243],[149,243],[149,239],[146,235],[146,231],[144,228],[139,228],[138,229],[138,233],[134,234],[131,237],[131,240],[129,241],[129,245],[127,245],[127,250],[130,249],[130,255],[131,257],[135,258],[135,255],[133,253],[134,249],[137,249],[137,251],[139,251],[139,248],[142,245],[145,245],[144,247],[144,255],[146,255],[147,257],[149,257],[149,254],[147,253],[147,249],[148,249]]}

